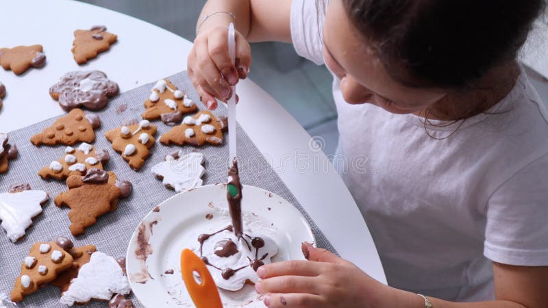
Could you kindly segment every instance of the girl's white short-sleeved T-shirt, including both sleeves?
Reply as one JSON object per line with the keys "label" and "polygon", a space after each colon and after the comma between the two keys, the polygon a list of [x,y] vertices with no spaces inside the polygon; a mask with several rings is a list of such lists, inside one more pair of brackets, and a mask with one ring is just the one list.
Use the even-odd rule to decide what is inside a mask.
{"label": "girl's white short-sleeved T-shirt, including both sleeves", "polygon": [[[317,14],[315,1],[294,0],[291,34],[299,55],[323,64]],[[452,135],[456,125],[427,127],[442,140],[413,114],[346,103],[339,82],[338,153],[348,163],[335,160],[389,285],[489,300],[492,261],[548,266],[548,116],[523,69],[488,111],[496,114],[466,119]]]}

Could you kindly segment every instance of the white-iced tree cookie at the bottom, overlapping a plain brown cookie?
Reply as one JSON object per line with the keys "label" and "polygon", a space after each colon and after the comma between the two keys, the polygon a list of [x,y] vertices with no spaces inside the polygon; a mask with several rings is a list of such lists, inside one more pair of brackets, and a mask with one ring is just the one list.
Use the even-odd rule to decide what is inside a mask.
{"label": "white-iced tree cookie at the bottom, overlapping a plain brown cookie", "polygon": [[88,303],[92,299],[110,300],[113,294],[129,294],[131,290],[118,262],[97,251],[80,268],[69,289],[62,293],[60,303],[72,306]]}

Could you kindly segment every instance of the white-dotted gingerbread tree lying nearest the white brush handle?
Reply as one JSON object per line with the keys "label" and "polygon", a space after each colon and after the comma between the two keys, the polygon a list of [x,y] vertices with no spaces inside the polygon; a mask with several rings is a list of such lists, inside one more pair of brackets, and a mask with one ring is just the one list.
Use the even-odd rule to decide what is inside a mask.
{"label": "white-dotted gingerbread tree lying nearest the white brush handle", "polygon": [[194,116],[186,116],[183,123],[160,136],[160,142],[170,144],[223,144],[223,131],[226,131],[226,118],[216,118],[210,111],[203,110]]}

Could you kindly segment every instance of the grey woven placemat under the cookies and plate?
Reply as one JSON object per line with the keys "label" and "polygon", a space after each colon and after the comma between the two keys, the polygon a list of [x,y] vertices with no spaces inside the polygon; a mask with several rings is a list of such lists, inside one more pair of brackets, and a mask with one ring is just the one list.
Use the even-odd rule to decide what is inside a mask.
{"label": "grey woven placemat under the cookies and plate", "polygon": [[[188,96],[193,101],[199,102],[190,80],[185,72],[178,73],[169,77],[169,79],[181,90],[186,90]],[[110,142],[106,140],[104,134],[106,131],[118,127],[122,120],[128,118],[140,119],[140,114],[145,109],[142,106],[143,101],[149,96],[151,84],[141,86],[129,92],[125,92],[116,99],[110,101],[105,110],[95,112],[101,118],[101,129],[96,131],[95,147],[97,149],[108,149],[110,153],[110,162],[105,166],[106,170],[113,170],[119,179],[127,179],[134,185],[132,196],[121,200],[116,211],[98,218],[97,224],[86,229],[84,235],[74,238],[69,231],[68,208],[60,209],[53,205],[53,198],[64,192],[66,185],[60,181],[44,181],[38,175],[38,170],[44,166],[49,166],[53,160],[57,160],[64,155],[65,146],[41,146],[37,148],[30,143],[30,138],[35,133],[39,133],[45,127],[53,123],[55,118],[45,120],[36,125],[19,129],[10,133],[10,143],[16,143],[19,149],[19,157],[10,161],[10,170],[0,175],[0,191],[5,192],[13,183],[29,183],[34,190],[45,190],[49,192],[51,200],[43,206],[43,212],[40,216],[33,219],[33,226],[27,229],[23,240],[15,244],[10,242],[5,234],[0,234],[0,265],[2,274],[0,279],[0,294],[10,294],[13,283],[21,270],[21,261],[27,256],[30,246],[35,242],[47,242],[57,235],[64,235],[73,240],[75,246],[95,244],[98,251],[103,251],[113,257],[125,256],[125,251],[133,231],[136,229],[140,220],[156,205],[166,198],[173,196],[175,192],[167,190],[162,182],[151,174],[151,167],[164,160],[165,155],[172,153],[176,149],[183,149],[188,153],[195,148],[192,146],[163,146],[159,142],[151,149],[151,157],[145,162],[145,166],[136,172],[129,168],[122,157],[115,153]],[[55,101],[34,102],[51,104],[52,108],[57,108]],[[117,112],[121,105],[127,105],[127,110]],[[205,107],[198,103],[199,109]],[[226,109],[221,105],[215,112],[216,116],[226,115]],[[155,121],[158,133],[156,139],[171,127],[168,127],[160,121]],[[237,132],[238,157],[240,163],[240,177],[242,183],[258,186],[279,194],[287,201],[295,205],[299,211],[306,217],[312,231],[316,237],[316,244],[319,247],[334,251],[333,246],[327,241],[325,235],[318,229],[316,224],[310,219],[310,216],[303,210],[301,205],[295,199],[295,196],[288,190],[282,179],[271,168],[266,159],[255,144],[249,139],[247,133],[238,127]],[[228,157],[227,142],[223,146],[204,146],[199,149],[206,157],[206,175],[203,177],[204,185],[220,183],[226,181],[226,166]],[[0,233],[3,233],[0,232]],[[40,292],[27,296],[18,307],[62,307],[59,303],[59,290],[57,287],[47,286]],[[142,307],[132,296],[136,307]],[[0,305],[1,307],[1,305]],[[86,307],[106,307],[105,303],[92,301]]]}

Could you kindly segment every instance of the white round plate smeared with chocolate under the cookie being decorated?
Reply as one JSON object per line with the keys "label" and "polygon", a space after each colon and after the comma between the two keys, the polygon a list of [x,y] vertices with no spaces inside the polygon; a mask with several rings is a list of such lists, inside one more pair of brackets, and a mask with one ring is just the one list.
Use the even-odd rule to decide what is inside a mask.
{"label": "white round plate smeared with chocolate under the cookie being decorated", "polygon": [[[272,261],[303,259],[301,242],[314,242],[314,235],[301,212],[261,188],[244,185],[242,194],[244,230],[260,231],[276,242],[278,253]],[[226,184],[216,184],[177,194],[145,216],[126,255],[129,283],[142,305],[194,307],[181,276],[181,251],[199,248],[199,234],[231,224],[228,213]],[[140,253],[145,250],[150,253],[146,258]],[[173,274],[169,274],[171,270]],[[219,289],[219,293],[224,307],[264,307],[252,285],[236,292]]]}

